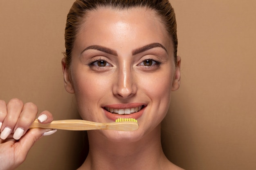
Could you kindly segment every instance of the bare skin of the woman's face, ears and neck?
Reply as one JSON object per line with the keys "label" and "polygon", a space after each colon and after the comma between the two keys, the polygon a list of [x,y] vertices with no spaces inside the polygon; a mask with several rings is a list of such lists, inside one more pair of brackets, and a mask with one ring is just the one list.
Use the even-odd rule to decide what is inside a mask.
{"label": "bare skin of the woman's face, ears and neck", "polygon": [[[131,117],[139,122],[139,129],[132,132],[88,131],[90,151],[80,169],[179,169],[164,156],[160,122],[167,113],[171,91],[180,86],[180,57],[175,65],[173,44],[154,11],[90,11],[74,43],[70,68],[65,58],[62,64],[65,88],[75,94],[83,119],[112,122],[117,117]],[[144,108],[116,115],[106,106]]]}

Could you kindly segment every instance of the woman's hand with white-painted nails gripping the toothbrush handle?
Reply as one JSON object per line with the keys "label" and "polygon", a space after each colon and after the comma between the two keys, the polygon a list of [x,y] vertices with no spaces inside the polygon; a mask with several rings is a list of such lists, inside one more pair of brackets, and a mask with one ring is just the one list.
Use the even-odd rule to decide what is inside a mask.
{"label": "woman's hand with white-painted nails gripping the toothbrush handle", "polygon": [[[11,99],[6,104],[0,100],[0,170],[17,168],[38,139],[56,132],[52,129],[29,129],[37,113],[38,108],[33,103],[23,104],[19,99]],[[48,111],[43,111],[38,120],[47,124],[53,117]]]}

